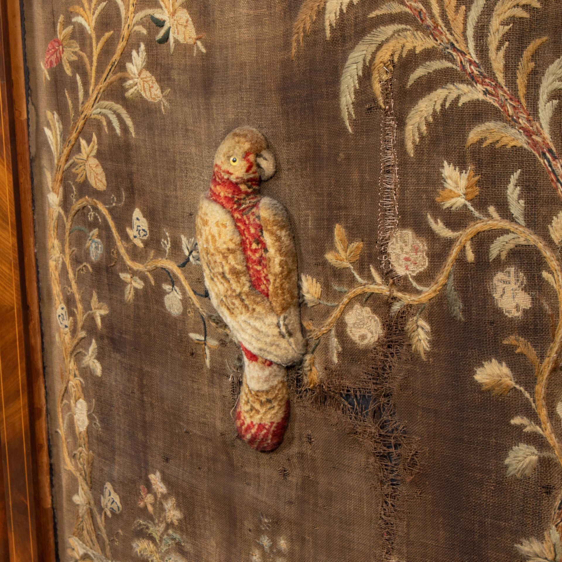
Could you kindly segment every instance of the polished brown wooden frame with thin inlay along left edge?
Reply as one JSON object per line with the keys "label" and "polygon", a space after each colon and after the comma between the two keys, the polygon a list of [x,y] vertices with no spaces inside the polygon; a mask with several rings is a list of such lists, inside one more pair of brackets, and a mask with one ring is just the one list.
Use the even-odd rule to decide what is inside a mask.
{"label": "polished brown wooden frame with thin inlay along left edge", "polygon": [[0,0],[0,559],[55,560],[22,20]]}

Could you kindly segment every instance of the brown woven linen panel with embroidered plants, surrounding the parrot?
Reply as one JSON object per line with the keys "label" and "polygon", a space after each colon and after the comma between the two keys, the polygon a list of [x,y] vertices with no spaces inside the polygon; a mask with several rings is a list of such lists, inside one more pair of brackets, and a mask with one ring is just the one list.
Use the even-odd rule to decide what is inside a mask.
{"label": "brown woven linen panel with embroidered plants, surrounding the parrot", "polygon": [[[559,562],[562,5],[23,4],[60,560]],[[244,360],[207,298],[240,126],[277,162],[296,362]],[[270,452],[244,361],[293,362]]]}

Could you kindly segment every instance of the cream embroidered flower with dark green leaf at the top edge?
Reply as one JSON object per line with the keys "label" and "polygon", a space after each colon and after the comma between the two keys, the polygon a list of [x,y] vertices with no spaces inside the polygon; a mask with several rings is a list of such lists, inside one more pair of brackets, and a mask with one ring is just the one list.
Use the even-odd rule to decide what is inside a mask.
{"label": "cream embroidered flower with dark green leaf at the top edge", "polygon": [[174,52],[174,40],[180,43],[191,43],[194,53],[197,48],[205,53],[205,47],[200,39],[203,35],[197,35],[193,20],[184,8],[180,8],[184,0],[158,0],[162,11],[154,12],[150,19],[158,28],[162,28],[156,37],[156,43],[164,44],[170,42],[170,52]]}

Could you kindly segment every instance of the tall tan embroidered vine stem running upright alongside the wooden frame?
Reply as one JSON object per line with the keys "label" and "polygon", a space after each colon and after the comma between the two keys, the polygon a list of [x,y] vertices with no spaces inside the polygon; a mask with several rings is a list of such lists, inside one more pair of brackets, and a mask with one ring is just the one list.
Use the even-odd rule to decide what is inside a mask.
{"label": "tall tan embroidered vine stem running upright alongside the wooden frame", "polygon": [[[94,0],[94,2],[92,3],[92,10],[91,10],[92,12],[95,4],[96,4],[96,0]],[[112,84],[111,76],[114,73],[114,70],[118,62],[120,61],[121,56],[123,55],[123,51],[125,49],[126,44],[128,43],[131,31],[133,29],[134,10],[136,4],[137,4],[137,0],[129,0],[128,13],[124,21],[123,28],[121,29],[121,36],[119,39],[119,43],[117,43],[115,53],[111,57],[111,61],[107,65],[106,70],[103,72],[101,79],[99,80],[98,84],[95,87],[94,87],[94,82],[96,76],[97,56],[99,54],[99,44],[97,44],[96,42],[95,35],[93,34],[93,29],[90,30],[92,31],[92,48],[93,48],[92,65],[89,64],[88,58],[86,56],[83,57],[84,60],[87,62],[86,67],[90,78],[90,95],[87,101],[85,101],[84,105],[81,107],[80,113],[76,118],[76,121],[72,123],[70,127],[71,133],[67,137],[62,147],[62,150],[60,151],[60,153],[58,153],[58,156],[56,158],[55,175],[52,183],[52,192],[57,197],[60,197],[60,192],[62,188],[62,179],[66,169],[70,165],[70,155],[72,149],[74,149],[74,146],[78,141],[80,133],[84,128],[84,125],[86,124],[90,116],[92,116],[92,111],[94,110],[94,107],[101,99],[103,92],[105,92],[107,87]],[[89,450],[88,434],[85,430],[80,430],[80,428],[78,427],[78,423],[76,422],[76,418],[74,418],[75,433],[76,433],[76,439],[78,441],[78,446],[76,447],[76,451],[74,452],[74,454],[71,455],[69,452],[69,448],[68,448],[69,446],[67,443],[67,437],[65,431],[65,417],[63,415],[63,408],[65,405],[66,393],[69,392],[70,394],[70,408],[72,414],[74,414],[75,412],[76,401],[79,400],[80,398],[83,398],[81,379],[79,377],[78,366],[76,365],[76,361],[75,361],[75,354],[76,354],[75,349],[78,343],[85,337],[85,333],[82,331],[82,325],[84,321],[83,306],[81,303],[80,291],[78,289],[78,286],[76,285],[74,270],[72,269],[70,264],[70,247],[69,244],[67,243],[68,238],[70,236],[71,220],[65,218],[65,215],[60,209],[60,207],[58,209],[52,209],[52,208],[49,209],[49,217],[48,217],[49,252],[51,252],[51,255],[56,255],[58,253],[57,250],[58,228],[57,227],[58,227],[59,216],[62,217],[62,220],[64,221],[65,228],[66,228],[64,261],[66,264],[66,269],[70,280],[71,292],[72,294],[74,294],[75,301],[76,301],[76,330],[74,332],[75,334],[74,336],[71,335],[70,329],[65,331],[64,329],[60,328],[58,333],[58,336],[60,338],[61,348],[62,348],[62,355],[64,358],[64,372],[62,373],[62,388],[59,393],[58,401],[57,401],[57,419],[59,425],[58,429],[61,433],[62,453],[65,459],[65,466],[67,470],[69,470],[76,477],[79,486],[78,497],[80,498],[81,506],[75,524],[75,534],[81,537],[85,545],[87,545],[94,551],[98,552],[99,554],[102,553],[102,549],[99,545],[97,537],[98,534],[101,535],[105,543],[104,546],[105,546],[106,558],[111,559],[111,547],[110,547],[110,541],[108,540],[105,531],[105,522],[103,521],[102,517],[98,513],[97,504],[94,501],[90,489],[92,483],[91,470],[92,470],[93,455],[92,452],[90,452]],[[175,267],[174,264],[170,264],[170,265]],[[173,269],[173,267],[171,269]],[[55,298],[55,307],[58,307],[59,305],[61,305],[62,302],[64,302],[64,298],[62,294],[59,265],[57,264],[56,260],[49,260],[49,275],[51,278],[53,297]],[[94,525],[92,514],[94,519],[96,520],[96,525]],[[97,530],[96,530],[96,526],[97,526]]]}

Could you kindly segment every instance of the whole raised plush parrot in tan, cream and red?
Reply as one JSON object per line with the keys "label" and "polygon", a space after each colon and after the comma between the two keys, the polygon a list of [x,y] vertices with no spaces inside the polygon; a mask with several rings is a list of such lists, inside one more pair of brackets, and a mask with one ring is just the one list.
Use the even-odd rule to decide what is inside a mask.
{"label": "whole raised plush parrot in tan, cream and red", "polygon": [[289,420],[285,367],[300,362],[306,350],[287,211],[260,194],[260,182],[274,173],[264,135],[235,129],[216,151],[211,187],[196,218],[207,291],[243,352],[236,429],[258,451],[273,451],[283,441]]}

